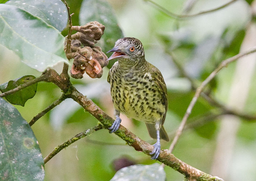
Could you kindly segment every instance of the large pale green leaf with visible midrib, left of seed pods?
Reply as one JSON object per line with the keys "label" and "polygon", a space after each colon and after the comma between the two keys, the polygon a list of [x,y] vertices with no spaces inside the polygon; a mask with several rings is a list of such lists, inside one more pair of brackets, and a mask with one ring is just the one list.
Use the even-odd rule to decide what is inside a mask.
{"label": "large pale green leaf with visible midrib, left of seed pods", "polygon": [[2,46],[38,71],[44,71],[58,62],[69,63],[63,49],[64,36],[43,19],[22,8],[0,4],[0,34]]}

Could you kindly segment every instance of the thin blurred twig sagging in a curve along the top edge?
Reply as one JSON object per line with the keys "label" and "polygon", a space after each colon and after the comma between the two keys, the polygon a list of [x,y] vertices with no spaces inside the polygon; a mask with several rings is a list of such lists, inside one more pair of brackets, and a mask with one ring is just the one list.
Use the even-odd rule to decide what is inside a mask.
{"label": "thin blurred twig sagging in a curve along the top edge", "polygon": [[158,7],[160,11],[162,11],[163,13],[165,13],[166,15],[168,15],[169,17],[172,17],[172,18],[176,18],[176,19],[184,19],[184,18],[192,18],[192,17],[196,17],[196,16],[199,16],[201,14],[207,14],[207,13],[212,13],[212,12],[215,12],[215,11],[218,11],[224,7],[227,7],[229,6],[230,4],[232,4],[233,2],[237,1],[237,0],[232,0],[232,1],[229,1],[227,2],[226,4],[222,5],[222,6],[219,6],[217,8],[213,8],[211,10],[207,10],[207,11],[201,11],[199,13],[196,13],[196,14],[175,14],[173,12],[170,12],[169,10],[167,10],[166,8],[164,8],[163,6],[160,6],[159,4],[157,4],[156,2],[152,1],[152,0],[144,0],[144,1],[147,1],[147,2],[150,2],[151,4],[153,4],[154,6]]}

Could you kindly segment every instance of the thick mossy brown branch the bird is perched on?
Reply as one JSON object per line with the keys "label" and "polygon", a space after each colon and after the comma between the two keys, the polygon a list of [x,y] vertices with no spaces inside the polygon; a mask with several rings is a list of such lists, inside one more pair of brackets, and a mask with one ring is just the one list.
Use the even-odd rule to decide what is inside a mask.
{"label": "thick mossy brown branch the bird is perched on", "polygon": [[[75,100],[78,104],[80,104],[85,110],[87,110],[91,115],[96,117],[100,123],[102,123],[103,127],[108,130],[108,128],[114,122],[114,119],[108,116],[104,111],[102,111],[91,99],[88,99],[83,94],[78,92],[74,87],[72,87],[71,98]],[[147,155],[152,152],[153,146],[147,143],[144,140],[141,140],[128,129],[120,125],[119,129],[115,132],[120,138],[125,140],[128,145],[135,148],[137,151],[141,151]],[[181,174],[186,177],[196,179],[198,181],[210,180],[210,181],[223,181],[218,177],[214,177],[212,175],[206,174],[185,162],[182,162],[178,158],[176,158],[169,151],[160,151],[160,155],[158,159],[160,162],[170,166],[171,168],[179,171]],[[214,180],[215,179],[215,180]]]}

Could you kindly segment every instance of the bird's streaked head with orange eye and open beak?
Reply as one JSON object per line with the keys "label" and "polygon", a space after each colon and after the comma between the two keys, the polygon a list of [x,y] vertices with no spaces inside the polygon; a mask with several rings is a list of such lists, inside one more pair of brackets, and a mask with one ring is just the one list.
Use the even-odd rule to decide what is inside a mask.
{"label": "bird's streaked head with orange eye and open beak", "polygon": [[115,42],[114,48],[109,52],[114,52],[108,60],[141,60],[145,58],[144,48],[140,40],[133,37],[120,38]]}

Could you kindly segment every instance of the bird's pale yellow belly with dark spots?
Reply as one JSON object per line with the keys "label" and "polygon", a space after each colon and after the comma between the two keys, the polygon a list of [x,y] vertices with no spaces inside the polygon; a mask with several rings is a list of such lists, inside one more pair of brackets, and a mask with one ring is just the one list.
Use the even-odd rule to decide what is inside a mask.
{"label": "bird's pale yellow belly with dark spots", "polygon": [[155,123],[165,113],[157,87],[147,80],[113,82],[111,95],[115,109],[129,118]]}

